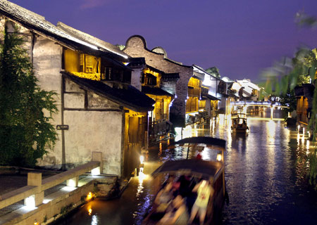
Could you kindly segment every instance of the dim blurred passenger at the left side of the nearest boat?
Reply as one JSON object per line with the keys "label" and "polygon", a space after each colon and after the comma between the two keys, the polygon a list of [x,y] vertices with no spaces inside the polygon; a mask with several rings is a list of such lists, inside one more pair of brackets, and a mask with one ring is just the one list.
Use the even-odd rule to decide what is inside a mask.
{"label": "dim blurred passenger at the left side of the nearest boat", "polygon": [[170,182],[166,184],[166,186],[164,186],[164,188],[156,195],[154,200],[156,205],[156,213],[166,212],[168,205],[173,199],[172,187],[173,183]]}

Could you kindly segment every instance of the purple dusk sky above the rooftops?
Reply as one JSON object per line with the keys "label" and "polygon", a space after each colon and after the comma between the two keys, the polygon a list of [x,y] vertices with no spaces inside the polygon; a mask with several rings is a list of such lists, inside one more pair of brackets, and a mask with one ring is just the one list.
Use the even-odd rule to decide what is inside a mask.
{"label": "purple dusk sky above the rooftops", "polygon": [[222,77],[256,81],[261,70],[298,46],[317,47],[317,30],[299,28],[294,15],[317,15],[316,0],[11,0],[111,44],[139,34],[148,49]]}

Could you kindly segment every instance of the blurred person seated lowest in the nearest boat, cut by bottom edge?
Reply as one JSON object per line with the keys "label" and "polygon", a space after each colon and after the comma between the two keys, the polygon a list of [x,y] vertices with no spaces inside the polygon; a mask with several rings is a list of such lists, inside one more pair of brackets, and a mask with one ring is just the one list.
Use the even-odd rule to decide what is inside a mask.
{"label": "blurred person seated lowest in the nearest boat, cut by bottom edge", "polygon": [[189,214],[185,205],[185,200],[181,195],[177,195],[172,203],[173,207],[159,221],[160,225],[187,225]]}

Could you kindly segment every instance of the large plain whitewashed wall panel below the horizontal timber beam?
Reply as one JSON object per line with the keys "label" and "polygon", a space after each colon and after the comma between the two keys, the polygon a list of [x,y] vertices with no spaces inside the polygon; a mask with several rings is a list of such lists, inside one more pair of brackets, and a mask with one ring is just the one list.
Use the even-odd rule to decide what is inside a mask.
{"label": "large plain whitewashed wall panel below the horizontal timber beam", "polygon": [[122,113],[108,111],[64,112],[66,163],[91,160],[92,152],[101,152],[104,173],[120,175]]}

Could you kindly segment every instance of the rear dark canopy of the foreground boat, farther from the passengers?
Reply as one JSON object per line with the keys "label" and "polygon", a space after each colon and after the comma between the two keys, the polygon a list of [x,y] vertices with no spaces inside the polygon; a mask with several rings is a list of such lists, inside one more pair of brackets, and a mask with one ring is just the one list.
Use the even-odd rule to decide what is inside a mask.
{"label": "rear dark canopy of the foreground boat, farther from the passengers", "polygon": [[204,144],[206,147],[220,147],[225,150],[225,140],[212,138],[211,136],[194,136],[191,138],[181,139],[180,141],[176,141],[173,145],[194,145],[194,144]]}

